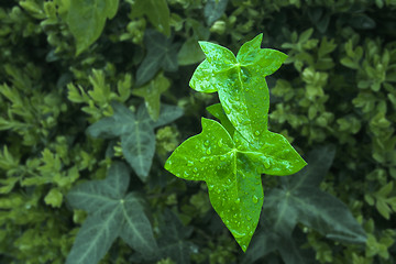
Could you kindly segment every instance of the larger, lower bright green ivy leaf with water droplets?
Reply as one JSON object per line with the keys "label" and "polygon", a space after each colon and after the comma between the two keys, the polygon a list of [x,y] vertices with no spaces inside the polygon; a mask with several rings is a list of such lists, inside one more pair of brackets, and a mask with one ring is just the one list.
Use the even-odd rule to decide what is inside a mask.
{"label": "larger, lower bright green ivy leaf with water droplets", "polygon": [[186,140],[165,164],[177,177],[205,180],[211,205],[245,251],[263,205],[261,174],[287,175],[306,163],[279,134],[262,133],[258,143],[233,139],[218,122],[202,118],[202,132]]}

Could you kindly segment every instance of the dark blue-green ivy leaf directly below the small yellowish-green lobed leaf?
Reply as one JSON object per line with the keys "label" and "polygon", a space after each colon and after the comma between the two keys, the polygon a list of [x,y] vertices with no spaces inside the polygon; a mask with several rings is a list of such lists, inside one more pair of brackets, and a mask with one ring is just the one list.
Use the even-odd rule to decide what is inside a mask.
{"label": "dark blue-green ivy leaf directly below the small yellowish-green lobed leaf", "polygon": [[91,124],[87,133],[101,139],[120,136],[127,162],[145,182],[155,152],[154,129],[182,117],[183,111],[177,107],[162,105],[158,119],[153,121],[144,105],[140,106],[136,113],[119,102],[112,102],[111,106],[113,116]]}

